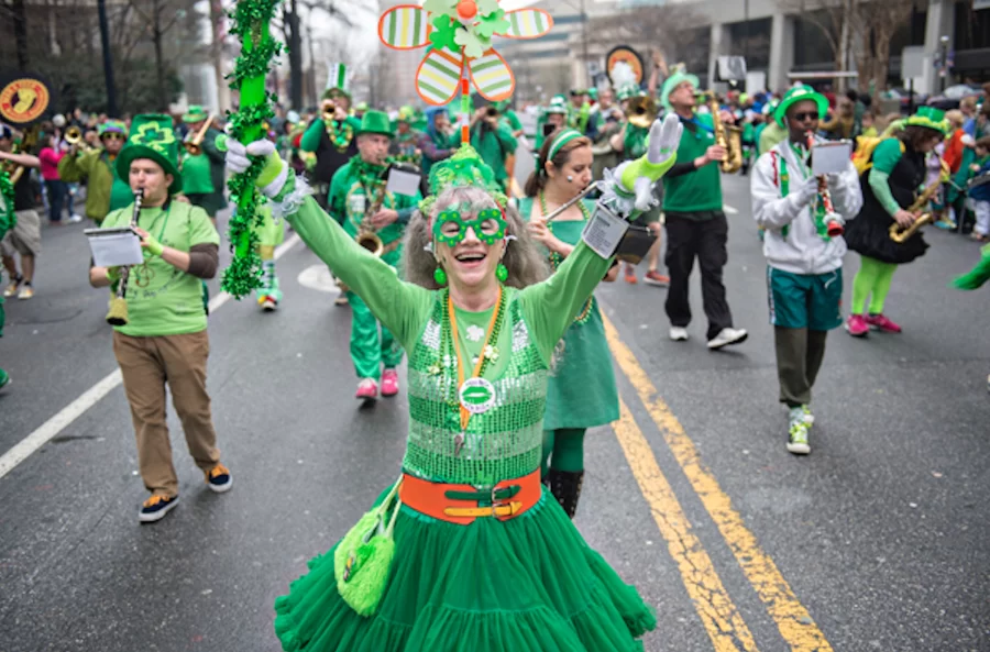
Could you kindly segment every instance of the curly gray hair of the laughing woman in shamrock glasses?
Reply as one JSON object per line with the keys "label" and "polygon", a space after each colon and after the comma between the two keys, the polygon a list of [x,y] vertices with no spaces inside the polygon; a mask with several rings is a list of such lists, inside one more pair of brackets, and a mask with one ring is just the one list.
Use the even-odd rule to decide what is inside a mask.
{"label": "curly gray hair of the laughing woman in shamrock glasses", "polygon": [[[430,225],[441,210],[458,203],[470,206],[471,212],[474,214],[486,208],[497,208],[492,196],[482,188],[461,186],[441,192],[437,201],[429,208],[427,216],[416,211],[413,219],[409,220],[409,225],[406,226],[406,236],[403,241],[400,268],[403,278],[407,281],[431,290],[440,289],[440,286],[433,280],[437,258],[431,251],[427,251],[427,247],[433,242],[433,232]],[[506,208],[505,220],[507,222],[506,235],[515,236],[514,241],[506,243],[505,257],[502,258],[502,263],[509,273],[505,285],[524,288],[546,279],[550,276],[550,266],[529,236],[529,231],[519,213],[513,208]]]}

